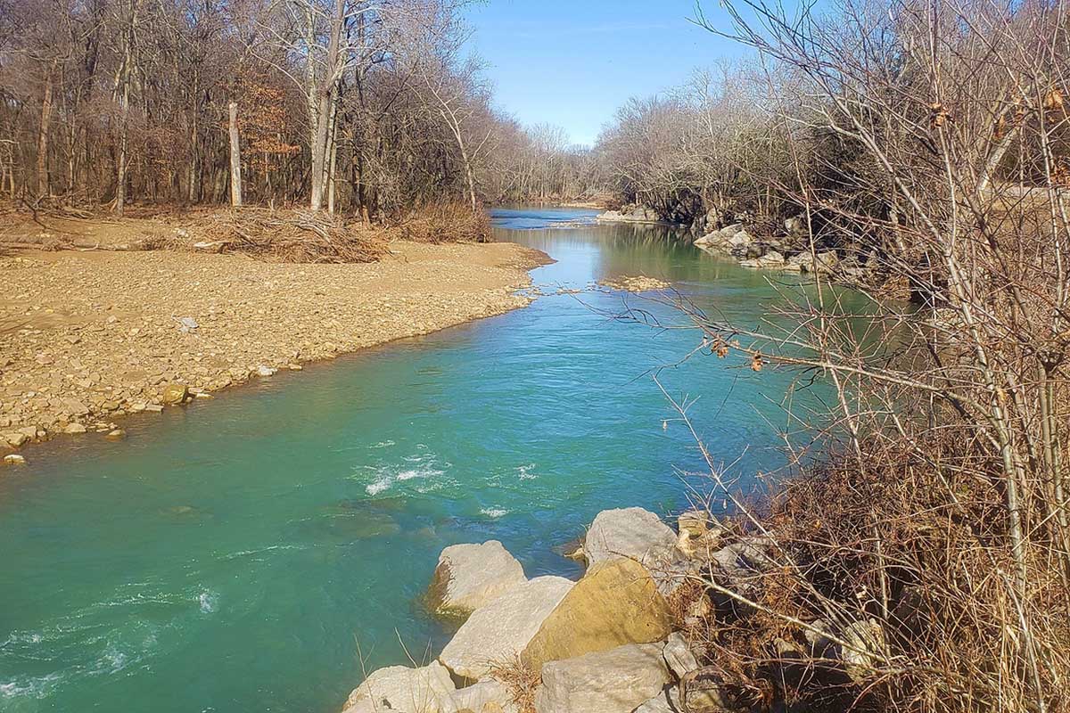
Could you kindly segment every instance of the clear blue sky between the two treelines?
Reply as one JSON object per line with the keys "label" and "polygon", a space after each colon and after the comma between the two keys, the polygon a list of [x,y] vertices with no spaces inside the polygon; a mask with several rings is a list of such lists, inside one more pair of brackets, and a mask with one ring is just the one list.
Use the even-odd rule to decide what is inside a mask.
{"label": "clear blue sky between the two treelines", "polygon": [[[717,0],[703,10],[727,22]],[[744,51],[688,21],[694,0],[488,0],[468,14],[499,106],[526,125],[562,126],[575,143],[594,143],[629,97]]]}

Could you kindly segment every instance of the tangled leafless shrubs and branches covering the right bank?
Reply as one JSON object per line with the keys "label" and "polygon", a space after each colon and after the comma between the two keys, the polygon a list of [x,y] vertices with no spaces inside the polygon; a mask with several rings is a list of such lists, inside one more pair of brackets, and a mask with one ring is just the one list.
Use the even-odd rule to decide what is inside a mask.
{"label": "tangled leafless shrubs and branches covering the right bank", "polygon": [[1070,710],[1066,7],[727,6],[709,29],[756,48],[767,92],[626,107],[603,139],[622,196],[797,216],[804,249],[858,251],[922,309],[849,312],[821,274],[759,327],[681,305],[706,358],[835,397],[793,416],[815,452],[793,440],[761,505],[702,450],[767,544],[745,587],[740,562],[698,578],[723,602],[692,631],[703,676],[797,710]]}

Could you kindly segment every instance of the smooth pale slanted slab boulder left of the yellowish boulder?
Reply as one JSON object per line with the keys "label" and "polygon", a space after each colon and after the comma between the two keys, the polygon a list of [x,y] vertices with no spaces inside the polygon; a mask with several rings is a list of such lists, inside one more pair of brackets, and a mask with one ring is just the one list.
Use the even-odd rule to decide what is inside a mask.
{"label": "smooth pale slanted slab boulder left of the yellowish boulder", "polygon": [[439,661],[456,676],[478,680],[494,664],[516,661],[574,583],[535,577],[476,609],[442,650]]}

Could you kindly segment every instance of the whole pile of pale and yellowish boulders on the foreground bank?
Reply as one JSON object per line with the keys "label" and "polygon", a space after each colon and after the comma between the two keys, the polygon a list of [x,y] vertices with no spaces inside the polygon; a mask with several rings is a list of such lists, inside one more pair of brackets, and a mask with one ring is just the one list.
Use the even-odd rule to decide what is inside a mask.
{"label": "whole pile of pale and yellowish boulders on the foreground bank", "polygon": [[425,666],[373,671],[345,713],[743,713],[768,703],[778,677],[795,677],[808,657],[837,669],[837,685],[861,681],[881,646],[868,622],[770,625],[783,664],[763,700],[731,667],[709,665],[708,633],[744,616],[775,575],[768,538],[702,511],[673,529],[628,508],[599,513],[570,556],[587,565],[578,582],[529,579],[496,541],[444,549],[428,605],[460,629]]}

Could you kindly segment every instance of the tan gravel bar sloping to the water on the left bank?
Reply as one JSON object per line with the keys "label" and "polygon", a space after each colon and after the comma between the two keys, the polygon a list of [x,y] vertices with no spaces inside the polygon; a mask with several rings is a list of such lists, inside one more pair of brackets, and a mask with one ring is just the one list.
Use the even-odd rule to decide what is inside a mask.
{"label": "tan gravel bar sloping to the water on the left bank", "polygon": [[109,432],[125,414],[523,307],[529,297],[515,291],[542,258],[508,243],[391,250],[364,265],[171,251],[0,257],[0,451]]}

